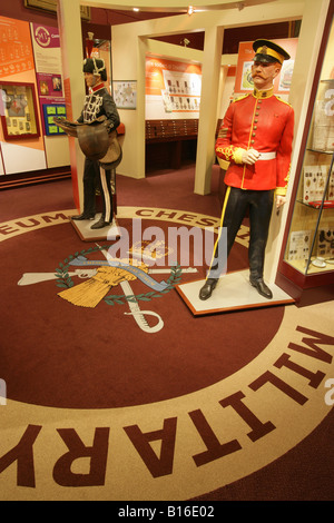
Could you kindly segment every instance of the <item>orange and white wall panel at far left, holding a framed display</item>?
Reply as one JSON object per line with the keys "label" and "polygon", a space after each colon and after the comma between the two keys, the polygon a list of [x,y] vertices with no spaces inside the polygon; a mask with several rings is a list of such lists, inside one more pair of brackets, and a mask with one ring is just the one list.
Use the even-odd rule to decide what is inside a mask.
{"label": "orange and white wall panel at far left, holding a framed display", "polygon": [[0,17],[0,176],[45,169],[29,22]]}

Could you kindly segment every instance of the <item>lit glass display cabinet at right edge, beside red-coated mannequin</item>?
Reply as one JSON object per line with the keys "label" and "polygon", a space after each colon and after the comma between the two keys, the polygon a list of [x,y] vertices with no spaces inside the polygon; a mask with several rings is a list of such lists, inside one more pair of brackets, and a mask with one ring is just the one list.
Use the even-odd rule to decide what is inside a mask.
{"label": "lit glass display cabinet at right edge, beside red-coated mannequin", "polygon": [[305,129],[282,273],[302,288],[334,283],[334,24]]}

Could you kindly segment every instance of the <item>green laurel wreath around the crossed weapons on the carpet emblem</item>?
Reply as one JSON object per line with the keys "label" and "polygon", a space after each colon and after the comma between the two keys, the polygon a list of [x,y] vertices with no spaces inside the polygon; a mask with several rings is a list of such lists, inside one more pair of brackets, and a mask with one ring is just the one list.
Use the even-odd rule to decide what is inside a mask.
{"label": "green laurel wreath around the crossed weapons on the carpet emblem", "polygon": [[[65,258],[62,262],[60,262],[58,267],[55,269],[57,287],[61,287],[61,288],[73,287],[75,283],[73,283],[72,278],[69,275],[69,268],[70,268],[69,263],[72,259],[77,258],[79,255],[85,256],[87,254],[91,254],[91,253],[95,253],[95,251],[98,251],[98,250],[106,250],[106,249],[108,249],[108,247],[109,246],[107,246],[107,245],[98,246],[98,247],[90,247],[87,250],[77,251],[73,255],[70,255],[67,258]],[[166,282],[168,284],[168,286],[164,290],[160,290],[159,293],[157,293],[155,290],[151,290],[151,292],[146,293],[146,294],[137,294],[137,295],[129,295],[129,296],[126,296],[126,295],[122,295],[122,296],[120,296],[120,295],[109,295],[109,296],[106,296],[104,298],[104,300],[108,305],[115,305],[115,304],[122,305],[126,302],[130,302],[130,303],[131,302],[132,303],[135,303],[135,302],[150,302],[153,298],[160,298],[165,294],[170,293],[170,290],[174,289],[175,285],[180,282],[181,272],[183,272],[183,269],[181,269],[180,265],[177,264],[177,265],[171,266],[170,267],[170,276]]]}

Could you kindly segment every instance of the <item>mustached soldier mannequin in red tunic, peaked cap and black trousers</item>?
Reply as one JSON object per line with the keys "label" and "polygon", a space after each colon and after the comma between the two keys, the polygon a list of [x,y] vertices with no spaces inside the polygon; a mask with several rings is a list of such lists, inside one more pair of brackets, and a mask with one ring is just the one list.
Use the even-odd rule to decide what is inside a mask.
{"label": "mustached soldier mannequin in red tunic, peaked cap and black trousers", "polygon": [[[265,248],[274,197],[276,207],[285,203],[291,168],[294,111],[289,103],[273,92],[274,78],[289,55],[269,40],[256,40],[252,77],[254,91],[228,107],[216,141],[216,155],[229,161],[225,175],[227,186],[223,206],[222,227],[227,229],[227,256],[242,221],[249,210],[249,282],[262,296],[271,299],[272,290],[263,280]],[[214,260],[200,299],[210,297],[223,262],[218,238]]]}

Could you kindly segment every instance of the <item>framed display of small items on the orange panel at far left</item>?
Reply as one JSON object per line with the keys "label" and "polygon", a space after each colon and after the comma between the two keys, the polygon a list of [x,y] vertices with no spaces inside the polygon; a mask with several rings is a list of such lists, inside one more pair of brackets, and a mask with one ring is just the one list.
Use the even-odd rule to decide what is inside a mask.
{"label": "framed display of small items on the orange panel at far left", "polygon": [[33,83],[0,81],[0,114],[6,140],[40,136]]}

